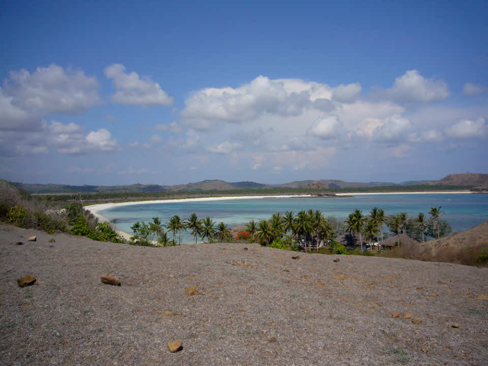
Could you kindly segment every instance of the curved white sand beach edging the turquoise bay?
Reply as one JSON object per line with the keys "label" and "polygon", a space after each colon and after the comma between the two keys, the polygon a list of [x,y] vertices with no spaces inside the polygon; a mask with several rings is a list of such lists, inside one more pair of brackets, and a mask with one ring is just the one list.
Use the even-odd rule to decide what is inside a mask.
{"label": "curved white sand beach edging the turquoise bay", "polygon": [[[474,193],[471,191],[434,191],[434,192],[380,192],[380,193],[369,193],[369,192],[357,192],[357,193],[335,193],[337,196],[365,196],[365,195],[400,195],[400,194],[468,194]],[[109,209],[112,207],[119,206],[131,206],[138,204],[155,204],[155,203],[177,203],[177,202],[201,202],[201,201],[224,201],[224,200],[236,200],[236,199],[260,199],[260,198],[293,198],[293,197],[315,197],[313,195],[280,195],[280,196],[224,196],[224,197],[200,197],[200,198],[181,198],[181,199],[163,199],[163,200],[149,200],[149,201],[129,201],[129,202],[114,202],[114,203],[100,203],[94,205],[84,206],[84,208],[90,211],[96,218],[101,222],[109,221],[104,216],[100,215],[98,212]],[[332,197],[333,198],[333,197]],[[123,236],[125,239],[129,240],[132,235],[115,229],[115,231]]]}

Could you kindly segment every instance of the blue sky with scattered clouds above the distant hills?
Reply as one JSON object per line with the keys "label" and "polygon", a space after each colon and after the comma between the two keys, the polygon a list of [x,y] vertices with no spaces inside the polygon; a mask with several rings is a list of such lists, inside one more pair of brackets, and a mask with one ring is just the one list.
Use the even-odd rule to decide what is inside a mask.
{"label": "blue sky with scattered clouds above the distant hills", "polygon": [[488,5],[393,3],[4,3],[0,177],[488,173]]}

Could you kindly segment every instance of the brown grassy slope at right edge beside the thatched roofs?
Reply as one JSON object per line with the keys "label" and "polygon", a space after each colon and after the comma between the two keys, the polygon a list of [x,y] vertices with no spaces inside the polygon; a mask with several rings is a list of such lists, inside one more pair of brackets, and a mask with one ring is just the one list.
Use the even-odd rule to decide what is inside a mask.
{"label": "brown grassy slope at right edge beside the thatched roofs", "polygon": [[[394,239],[395,236],[389,238],[389,240]],[[426,242],[404,240],[400,248],[394,249],[386,255],[423,261],[481,265],[477,262],[477,258],[483,250],[486,250],[486,254],[488,254],[488,221],[439,240]]]}

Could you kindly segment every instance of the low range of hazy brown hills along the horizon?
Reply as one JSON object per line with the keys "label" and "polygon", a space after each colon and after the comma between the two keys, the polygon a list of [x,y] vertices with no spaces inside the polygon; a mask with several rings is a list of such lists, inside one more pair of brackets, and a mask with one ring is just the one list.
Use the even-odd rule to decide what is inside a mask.
{"label": "low range of hazy brown hills along the horizon", "polygon": [[56,184],[24,184],[17,183],[29,193],[97,193],[97,192],[163,192],[163,191],[232,191],[239,189],[324,189],[334,190],[340,188],[368,188],[387,186],[464,186],[464,187],[488,187],[488,174],[451,174],[440,180],[409,180],[400,184],[392,182],[347,182],[337,179],[321,180],[296,180],[289,183],[266,185],[252,181],[227,182],[219,179],[202,180],[200,182],[185,185],[160,186],[134,184],[127,186],[69,186]]}

